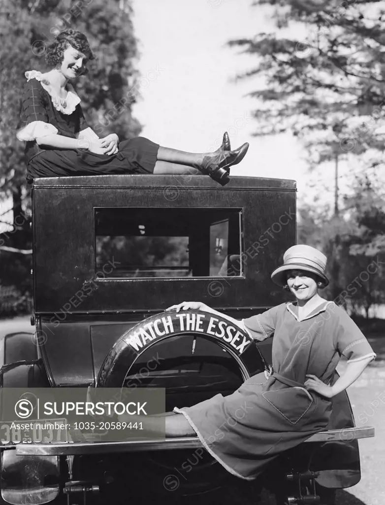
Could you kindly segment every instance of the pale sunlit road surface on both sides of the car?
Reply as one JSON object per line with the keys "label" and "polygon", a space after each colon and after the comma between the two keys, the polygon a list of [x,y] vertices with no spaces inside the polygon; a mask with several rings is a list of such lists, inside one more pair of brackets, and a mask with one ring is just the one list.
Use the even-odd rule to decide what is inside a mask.
{"label": "pale sunlit road surface on both sides of the car", "polygon": [[[0,338],[6,333],[17,331],[32,332],[29,316],[12,320],[0,320]],[[385,504],[385,337],[370,338],[371,345],[377,353],[373,362],[362,376],[349,388],[357,426],[374,426],[375,438],[360,440],[361,481],[348,490],[340,490],[336,505],[384,505]],[[339,367],[343,372],[344,365]],[[191,504],[209,505],[212,498],[201,496]],[[228,493],[221,499],[222,505],[255,505],[254,499]],[[180,501],[182,504],[183,501]],[[155,505],[155,502],[154,502]],[[187,502],[186,504],[187,505]],[[189,505],[189,503],[188,503]],[[263,495],[261,505],[275,505],[275,499],[267,492]]]}

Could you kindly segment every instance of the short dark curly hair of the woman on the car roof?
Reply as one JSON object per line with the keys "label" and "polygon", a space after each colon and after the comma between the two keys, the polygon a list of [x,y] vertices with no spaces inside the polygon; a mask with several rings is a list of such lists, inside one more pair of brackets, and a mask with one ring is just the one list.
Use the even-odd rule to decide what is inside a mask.
{"label": "short dark curly hair of the woman on the car roof", "polygon": [[63,53],[69,45],[83,53],[88,60],[95,59],[84,33],[69,28],[56,35],[55,40],[47,47],[45,53],[47,65],[53,67],[59,65],[63,61]]}

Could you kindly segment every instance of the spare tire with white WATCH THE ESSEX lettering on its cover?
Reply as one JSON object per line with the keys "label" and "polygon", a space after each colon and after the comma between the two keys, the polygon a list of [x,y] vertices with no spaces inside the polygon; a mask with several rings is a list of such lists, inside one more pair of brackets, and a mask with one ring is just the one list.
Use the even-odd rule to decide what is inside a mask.
{"label": "spare tire with white WATCH THE ESSEX lettering on its cover", "polygon": [[[138,364],[146,361],[145,357],[151,355],[151,352],[153,352],[153,349],[151,349],[150,353],[147,353],[147,355],[145,354],[150,347],[164,340],[171,339],[169,349],[171,351],[177,346],[175,337],[180,335],[184,335],[186,340],[188,339],[187,335],[211,340],[211,342],[206,343],[208,344],[209,352],[210,348],[216,350],[216,356],[207,356],[206,352],[204,356],[194,356],[191,357],[191,359],[203,358],[209,370],[213,370],[212,367],[217,366],[215,371],[216,375],[213,375],[214,378],[212,382],[214,384],[220,383],[222,385],[222,390],[217,390],[216,392],[222,392],[224,395],[229,394],[239,387],[243,381],[263,371],[265,368],[265,362],[255,342],[247,333],[228,319],[203,311],[183,311],[179,313],[176,313],[176,311],[167,311],[138,323],[127,330],[116,341],[100,368],[97,378],[97,387],[122,388],[126,386],[127,376],[132,377],[135,375],[133,372],[138,371],[140,368]],[[189,341],[191,340],[192,338],[189,339]],[[164,344],[166,344],[166,342]],[[197,344],[197,348],[198,347],[199,345]],[[191,349],[191,346],[188,348]],[[226,352],[222,352],[223,350]],[[165,351],[167,352],[167,347]],[[170,362],[172,362],[170,366],[171,369],[177,368],[175,360],[175,357],[170,360]],[[162,363],[162,365],[165,363],[166,362]],[[219,363],[222,365],[224,363],[226,364],[222,366],[218,365]],[[183,368],[188,368],[188,365],[183,363]],[[167,366],[163,368],[162,373],[164,373],[164,369],[167,369]],[[236,374],[234,370],[236,370]],[[154,374],[156,375],[157,372],[154,372]],[[218,374],[223,374],[224,376],[219,377]],[[162,381],[162,374],[159,374],[156,380],[158,380],[158,382]],[[178,378],[177,380],[180,381],[182,379]],[[203,378],[203,382],[204,380],[205,377]],[[143,380],[140,381],[141,387],[143,387],[144,382]],[[130,384],[132,384],[131,381]],[[166,392],[167,384],[168,382],[166,380]],[[225,386],[223,386],[223,384],[225,384]],[[196,389],[201,390],[197,398],[199,394],[204,394],[206,397],[215,394],[215,392],[213,393],[210,391],[210,388],[202,393],[202,389],[205,389],[202,386],[202,380],[199,384],[195,383],[194,387],[195,386],[197,386]],[[150,387],[152,387],[151,384]],[[179,397],[179,401],[182,401],[183,404],[178,405],[179,407],[188,406],[188,401],[190,401],[191,404],[191,399],[194,400],[194,394],[190,395],[188,387],[187,391],[185,388],[186,386],[184,385],[184,392],[181,395],[182,398]],[[170,409],[172,409],[176,405],[172,403],[174,395],[170,393],[170,396]],[[187,398],[188,396],[192,396],[192,398]],[[184,403],[184,401],[187,403]],[[199,401],[199,399],[197,399],[197,401]],[[121,458],[124,459],[122,455]],[[175,482],[178,482],[177,492],[181,494],[197,494],[207,492],[208,490],[214,490],[228,482],[229,478],[231,478],[228,472],[217,464],[216,460],[214,460],[203,448],[195,451],[191,449],[179,449],[173,451],[165,450],[151,453],[135,453],[135,466],[131,464],[133,455],[127,455],[127,461],[123,461],[121,458],[117,465],[120,469],[120,477],[118,480],[125,481],[124,469],[126,468],[130,468],[131,477],[133,477],[133,472],[135,473],[136,482],[140,482],[141,476],[148,476],[149,473],[151,473],[151,492],[156,492],[157,494],[162,494],[163,492],[167,493],[170,490],[167,489],[167,482],[165,483],[165,479],[167,480],[168,478],[170,480],[171,477],[174,478]],[[146,471],[143,470],[144,468]],[[176,469],[179,469],[178,474],[176,474]],[[188,479],[180,478],[179,474],[183,471],[188,472]],[[146,488],[146,486],[140,486],[140,488],[143,493],[143,489]]]}

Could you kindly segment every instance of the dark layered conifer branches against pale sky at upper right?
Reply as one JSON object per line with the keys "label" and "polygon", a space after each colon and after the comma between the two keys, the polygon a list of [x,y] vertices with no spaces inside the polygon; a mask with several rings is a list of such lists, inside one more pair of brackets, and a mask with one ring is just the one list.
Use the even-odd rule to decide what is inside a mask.
{"label": "dark layered conifer branches against pale sky at upper right", "polygon": [[[270,6],[269,4],[274,4]],[[278,28],[229,42],[255,56],[238,78],[261,76],[255,135],[291,130],[322,155],[383,149],[375,135],[385,116],[382,4],[373,0],[316,2],[256,0]],[[291,30],[290,30],[291,29]],[[289,32],[289,35],[288,35]]]}

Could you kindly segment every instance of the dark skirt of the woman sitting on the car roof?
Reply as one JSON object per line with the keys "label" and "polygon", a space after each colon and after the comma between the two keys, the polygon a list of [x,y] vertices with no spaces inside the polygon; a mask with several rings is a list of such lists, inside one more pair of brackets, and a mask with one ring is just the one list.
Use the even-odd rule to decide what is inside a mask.
{"label": "dark skirt of the woman sitting on the car roof", "polygon": [[152,174],[159,144],[144,137],[119,142],[116,155],[96,155],[82,149],[46,149],[27,166],[27,181],[35,177],[104,174]]}

